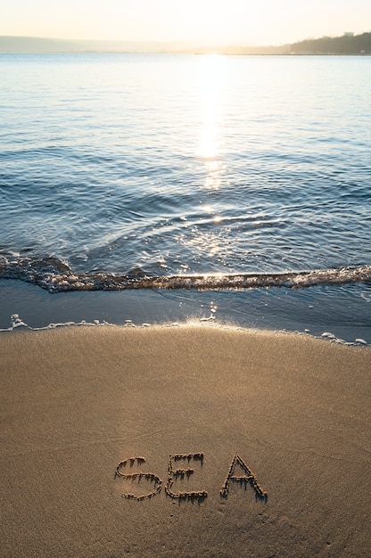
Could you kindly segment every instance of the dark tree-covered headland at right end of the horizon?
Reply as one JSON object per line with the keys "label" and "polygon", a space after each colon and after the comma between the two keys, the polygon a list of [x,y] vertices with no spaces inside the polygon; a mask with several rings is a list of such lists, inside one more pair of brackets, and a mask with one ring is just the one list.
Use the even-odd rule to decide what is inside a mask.
{"label": "dark tree-covered headland at right end of the horizon", "polygon": [[307,39],[291,45],[293,54],[371,54],[371,33]]}

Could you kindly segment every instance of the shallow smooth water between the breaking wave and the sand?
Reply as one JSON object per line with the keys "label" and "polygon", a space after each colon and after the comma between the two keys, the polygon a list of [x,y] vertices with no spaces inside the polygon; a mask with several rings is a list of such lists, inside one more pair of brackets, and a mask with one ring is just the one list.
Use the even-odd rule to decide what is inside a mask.
{"label": "shallow smooth water between the breaking wave and the sand", "polygon": [[[269,288],[239,291],[133,290],[49,293],[16,280],[3,280],[0,335],[19,322],[30,329],[53,324],[214,323],[246,329],[305,333],[312,337],[371,345],[364,285],[305,290]],[[325,335],[326,334],[326,335]],[[359,342],[357,341],[357,342]]]}

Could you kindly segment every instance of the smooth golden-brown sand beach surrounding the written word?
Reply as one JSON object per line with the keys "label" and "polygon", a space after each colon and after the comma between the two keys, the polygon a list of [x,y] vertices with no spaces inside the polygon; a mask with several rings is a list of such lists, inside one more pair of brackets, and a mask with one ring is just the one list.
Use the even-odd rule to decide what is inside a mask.
{"label": "smooth golden-brown sand beach surrounding the written word", "polygon": [[371,555],[370,349],[210,326],[0,349],[2,558]]}

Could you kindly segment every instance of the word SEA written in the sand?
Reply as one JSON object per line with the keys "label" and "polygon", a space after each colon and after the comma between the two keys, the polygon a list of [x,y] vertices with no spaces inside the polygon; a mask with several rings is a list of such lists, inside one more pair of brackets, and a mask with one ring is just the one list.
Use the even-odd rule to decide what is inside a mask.
{"label": "word SEA written in the sand", "polygon": [[[153,472],[128,472],[128,468],[136,465],[142,465],[145,463],[144,457],[129,457],[116,467],[115,479],[120,479],[125,481],[127,487],[133,487],[133,491],[128,491],[128,489],[122,492],[124,498],[131,500],[144,500],[146,498],[152,498],[161,492],[161,488],[164,487],[166,496],[171,498],[177,498],[182,500],[197,500],[202,501],[208,496],[208,492],[205,489],[193,490],[190,492],[185,492],[179,490],[179,481],[188,480],[191,475],[194,474],[195,464],[203,464],[203,453],[198,452],[194,454],[176,454],[169,455],[168,462],[168,478],[167,482],[164,484],[161,478]],[[143,481],[146,481],[149,488],[148,492],[143,492]],[[255,491],[255,496],[267,502],[268,494],[258,484],[256,475],[251,472],[250,468],[243,462],[240,455],[235,454],[230,464],[229,470],[227,472],[227,478],[220,488],[220,496],[227,498],[229,487],[231,482],[238,483],[240,486],[246,488],[248,485]],[[181,482],[180,482],[181,485]]]}

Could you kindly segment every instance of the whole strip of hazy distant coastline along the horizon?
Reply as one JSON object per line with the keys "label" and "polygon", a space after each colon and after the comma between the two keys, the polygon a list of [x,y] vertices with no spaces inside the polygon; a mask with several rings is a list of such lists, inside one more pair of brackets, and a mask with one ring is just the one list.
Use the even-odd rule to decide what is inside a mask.
{"label": "whole strip of hazy distant coastline along the horizon", "polygon": [[0,53],[182,53],[182,54],[276,54],[276,55],[370,55],[371,32],[342,37],[305,39],[293,44],[197,45],[187,42],[87,41],[44,37],[0,36]]}

